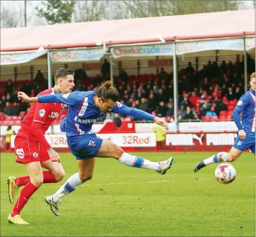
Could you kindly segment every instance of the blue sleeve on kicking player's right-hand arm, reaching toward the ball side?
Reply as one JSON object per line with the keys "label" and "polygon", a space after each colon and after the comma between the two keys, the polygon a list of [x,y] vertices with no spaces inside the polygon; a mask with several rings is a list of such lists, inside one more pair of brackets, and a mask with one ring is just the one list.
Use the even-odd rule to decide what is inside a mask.
{"label": "blue sleeve on kicking player's right-hand arm, reaching toward the ball side", "polygon": [[155,117],[152,114],[149,114],[142,110],[138,110],[136,108],[129,108],[126,105],[121,104],[120,102],[117,102],[116,106],[112,108],[112,112],[132,116],[134,118],[146,119],[146,120],[152,120],[152,121],[154,120],[154,117]]}

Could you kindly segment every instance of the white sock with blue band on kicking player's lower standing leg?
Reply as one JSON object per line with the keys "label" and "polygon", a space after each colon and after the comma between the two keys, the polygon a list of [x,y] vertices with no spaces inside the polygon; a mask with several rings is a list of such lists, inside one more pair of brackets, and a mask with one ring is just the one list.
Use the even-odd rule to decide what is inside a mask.
{"label": "white sock with blue band on kicking player's lower standing leg", "polygon": [[66,183],[63,184],[55,194],[52,195],[53,202],[60,202],[62,197],[76,190],[80,184],[82,184],[82,181],[79,178],[79,173],[73,174],[68,178]]}

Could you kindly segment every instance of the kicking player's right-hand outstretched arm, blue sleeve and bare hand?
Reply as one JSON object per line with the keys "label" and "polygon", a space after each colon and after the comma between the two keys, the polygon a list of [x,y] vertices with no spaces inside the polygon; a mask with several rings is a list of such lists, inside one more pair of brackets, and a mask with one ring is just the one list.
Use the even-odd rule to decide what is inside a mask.
{"label": "kicking player's right-hand outstretched arm, blue sleeve and bare hand", "polygon": [[132,116],[134,118],[155,121],[156,124],[159,124],[165,127],[166,130],[169,130],[168,124],[164,119],[153,116],[152,114],[139,110],[138,108],[129,108],[126,105],[121,104],[120,102],[117,102],[116,106],[112,108],[112,112]]}

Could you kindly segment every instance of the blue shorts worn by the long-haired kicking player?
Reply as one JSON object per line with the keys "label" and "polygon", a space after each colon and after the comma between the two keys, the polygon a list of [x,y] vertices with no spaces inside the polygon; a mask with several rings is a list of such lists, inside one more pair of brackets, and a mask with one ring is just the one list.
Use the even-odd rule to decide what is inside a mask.
{"label": "blue shorts worn by the long-haired kicking player", "polygon": [[69,150],[76,160],[95,157],[102,146],[102,141],[103,139],[98,138],[95,134],[67,138]]}

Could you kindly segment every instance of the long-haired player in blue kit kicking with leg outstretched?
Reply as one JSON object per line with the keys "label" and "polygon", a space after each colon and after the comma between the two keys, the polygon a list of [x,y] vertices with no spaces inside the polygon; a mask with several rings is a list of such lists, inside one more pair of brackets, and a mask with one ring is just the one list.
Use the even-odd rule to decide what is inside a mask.
{"label": "long-haired player in blue kit kicking with leg outstretched", "polygon": [[59,215],[61,198],[77,189],[79,185],[92,179],[96,157],[113,157],[124,165],[136,168],[151,169],[165,174],[174,162],[173,157],[165,161],[152,162],[139,156],[130,155],[114,143],[98,138],[92,131],[92,125],[106,112],[120,113],[134,118],[152,120],[168,130],[168,124],[162,118],[142,110],[129,108],[118,102],[118,91],[111,81],[90,92],[78,92],[58,95],[43,95],[30,98],[19,92],[18,97],[26,102],[58,102],[69,105],[67,117],[61,123],[61,131],[66,132],[68,147],[76,156],[79,172],[68,178],[66,183],[45,201],[50,205],[53,214]]}

